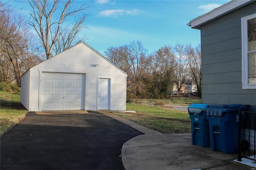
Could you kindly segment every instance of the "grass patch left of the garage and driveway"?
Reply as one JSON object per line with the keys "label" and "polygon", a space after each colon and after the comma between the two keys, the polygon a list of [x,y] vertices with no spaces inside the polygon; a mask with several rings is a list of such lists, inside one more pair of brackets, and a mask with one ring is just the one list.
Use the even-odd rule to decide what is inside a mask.
{"label": "grass patch left of the garage and driveway", "polygon": [[20,103],[20,94],[0,92],[0,135],[24,119],[28,110]]}

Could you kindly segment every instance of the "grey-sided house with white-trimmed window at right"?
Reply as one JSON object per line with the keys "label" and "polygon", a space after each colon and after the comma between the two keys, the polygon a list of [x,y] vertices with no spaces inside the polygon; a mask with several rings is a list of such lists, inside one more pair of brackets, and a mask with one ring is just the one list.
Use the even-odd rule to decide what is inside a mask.
{"label": "grey-sided house with white-trimmed window at right", "polygon": [[256,1],[234,0],[191,20],[201,31],[202,103],[256,111]]}

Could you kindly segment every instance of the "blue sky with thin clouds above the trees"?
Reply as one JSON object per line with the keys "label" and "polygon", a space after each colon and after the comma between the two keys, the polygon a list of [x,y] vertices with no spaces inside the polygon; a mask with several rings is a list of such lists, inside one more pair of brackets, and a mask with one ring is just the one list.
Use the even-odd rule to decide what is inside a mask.
{"label": "blue sky with thin clouds above the trees", "polygon": [[[149,53],[176,43],[196,46],[200,44],[200,30],[191,29],[188,22],[228,2],[230,0],[93,0],[84,23],[89,30],[80,34],[102,54],[110,46],[118,47],[133,40],[140,40]],[[26,14],[29,4],[23,3],[26,5],[22,11]]]}

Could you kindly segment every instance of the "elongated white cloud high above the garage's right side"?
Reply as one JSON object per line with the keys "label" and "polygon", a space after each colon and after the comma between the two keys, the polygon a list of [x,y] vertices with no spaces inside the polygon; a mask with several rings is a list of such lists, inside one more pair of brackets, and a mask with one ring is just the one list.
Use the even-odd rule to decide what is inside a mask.
{"label": "elongated white cloud high above the garage's right side", "polygon": [[133,10],[124,10],[124,9],[104,10],[104,11],[100,12],[97,16],[114,16],[114,17],[116,17],[116,16],[122,16],[124,14],[135,16],[135,15],[141,14],[142,12],[143,12],[142,10],[138,10],[138,9],[133,9]]}

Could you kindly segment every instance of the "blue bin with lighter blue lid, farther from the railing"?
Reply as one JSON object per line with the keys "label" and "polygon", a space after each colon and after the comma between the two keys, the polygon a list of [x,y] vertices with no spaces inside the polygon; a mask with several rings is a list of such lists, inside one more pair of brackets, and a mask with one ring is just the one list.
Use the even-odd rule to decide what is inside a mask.
{"label": "blue bin with lighter blue lid, farther from the railing", "polygon": [[191,140],[193,145],[210,147],[209,124],[204,109],[207,104],[191,104],[188,114],[191,119]]}

